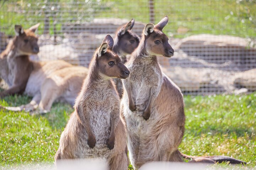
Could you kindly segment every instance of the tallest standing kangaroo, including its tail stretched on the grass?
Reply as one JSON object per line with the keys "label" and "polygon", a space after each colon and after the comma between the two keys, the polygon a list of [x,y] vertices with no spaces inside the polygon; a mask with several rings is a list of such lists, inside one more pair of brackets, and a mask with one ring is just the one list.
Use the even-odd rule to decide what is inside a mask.
{"label": "tallest standing kangaroo, including its tail stretched on the grass", "polygon": [[[138,48],[126,63],[130,78],[123,80],[121,114],[126,121],[129,158],[135,169],[146,162],[182,162],[182,157],[189,157],[177,149],[185,130],[183,96],[162,72],[156,58],[174,55],[168,37],[162,32],[167,22],[165,16],[155,26],[146,24]],[[244,163],[230,157],[193,158],[197,162]]]}

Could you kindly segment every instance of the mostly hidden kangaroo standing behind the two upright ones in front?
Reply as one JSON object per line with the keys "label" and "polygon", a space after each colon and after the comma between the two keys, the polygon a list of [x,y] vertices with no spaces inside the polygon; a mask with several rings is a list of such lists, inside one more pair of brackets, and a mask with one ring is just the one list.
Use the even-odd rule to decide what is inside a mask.
{"label": "mostly hidden kangaroo standing behind the two upright ones in front", "polygon": [[[127,62],[127,55],[131,54],[139,45],[140,37],[132,32],[134,19],[119,27],[115,33],[113,51],[121,57],[122,62]],[[121,79],[113,79],[119,97],[122,98],[123,84]]]}

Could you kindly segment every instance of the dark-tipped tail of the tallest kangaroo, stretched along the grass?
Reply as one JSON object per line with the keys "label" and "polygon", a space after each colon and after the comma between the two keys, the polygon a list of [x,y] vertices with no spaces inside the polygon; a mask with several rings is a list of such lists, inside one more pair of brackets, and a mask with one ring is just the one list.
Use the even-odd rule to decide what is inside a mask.
{"label": "dark-tipped tail of the tallest kangaroo, stretched along the grass", "polygon": [[222,162],[230,162],[231,164],[246,164],[246,162],[227,157],[227,156],[201,156],[201,157],[195,157],[186,155],[180,152],[183,158],[185,159],[192,159],[190,162],[207,162],[207,163],[222,163]]}

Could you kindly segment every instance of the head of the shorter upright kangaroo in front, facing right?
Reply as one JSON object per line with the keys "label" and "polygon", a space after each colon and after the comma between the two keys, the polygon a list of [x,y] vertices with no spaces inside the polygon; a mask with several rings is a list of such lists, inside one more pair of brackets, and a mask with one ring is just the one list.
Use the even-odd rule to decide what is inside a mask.
{"label": "head of the shorter upright kangaroo in front, facing right", "polygon": [[114,40],[107,35],[96,51],[96,64],[101,74],[110,78],[126,79],[130,71],[124,66],[119,56],[112,51]]}

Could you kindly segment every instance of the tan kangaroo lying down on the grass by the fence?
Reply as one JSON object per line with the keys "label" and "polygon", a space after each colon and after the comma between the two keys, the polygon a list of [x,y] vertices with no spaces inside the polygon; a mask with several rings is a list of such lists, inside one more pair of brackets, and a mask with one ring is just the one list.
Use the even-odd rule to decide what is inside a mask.
{"label": "tan kangaroo lying down on the grass by the fence", "polygon": [[16,36],[1,53],[1,77],[10,88],[0,93],[0,96],[24,92],[33,97],[26,105],[5,109],[32,111],[39,107],[40,113],[46,113],[55,100],[73,105],[87,75],[87,68],[73,67],[62,60],[30,61],[29,55],[39,52],[37,37],[34,35],[38,26],[39,23],[27,30],[15,26]]}

